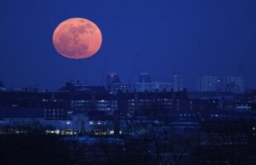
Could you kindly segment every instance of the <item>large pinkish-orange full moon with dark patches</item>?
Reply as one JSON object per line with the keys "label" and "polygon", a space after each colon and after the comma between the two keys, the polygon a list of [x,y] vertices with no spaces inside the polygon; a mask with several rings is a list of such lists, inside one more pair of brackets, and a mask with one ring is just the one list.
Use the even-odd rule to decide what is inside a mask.
{"label": "large pinkish-orange full moon with dark patches", "polygon": [[56,27],[55,50],[69,59],[85,59],[96,54],[102,45],[102,32],[84,18],[70,18]]}

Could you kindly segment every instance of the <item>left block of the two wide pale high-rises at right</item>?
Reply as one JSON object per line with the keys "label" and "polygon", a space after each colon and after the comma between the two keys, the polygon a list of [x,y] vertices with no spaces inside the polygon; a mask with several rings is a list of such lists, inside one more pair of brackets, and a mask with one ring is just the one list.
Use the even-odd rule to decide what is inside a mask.
{"label": "left block of the two wide pale high-rises at right", "polygon": [[220,92],[222,90],[222,81],[217,76],[199,76],[199,92]]}

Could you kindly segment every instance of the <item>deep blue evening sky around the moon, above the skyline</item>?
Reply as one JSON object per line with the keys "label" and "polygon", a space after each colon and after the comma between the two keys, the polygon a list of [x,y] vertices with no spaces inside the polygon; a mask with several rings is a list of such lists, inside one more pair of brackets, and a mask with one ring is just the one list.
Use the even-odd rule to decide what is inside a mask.
{"label": "deep blue evening sky around the moon, above the skyline", "polygon": [[[183,73],[195,89],[198,74],[240,74],[256,87],[255,8],[255,0],[1,0],[0,78],[7,87],[98,85],[103,68],[127,82],[139,54],[134,81],[140,72],[155,81]],[[102,31],[102,48],[90,59],[65,59],[52,44],[55,27],[77,16]]]}

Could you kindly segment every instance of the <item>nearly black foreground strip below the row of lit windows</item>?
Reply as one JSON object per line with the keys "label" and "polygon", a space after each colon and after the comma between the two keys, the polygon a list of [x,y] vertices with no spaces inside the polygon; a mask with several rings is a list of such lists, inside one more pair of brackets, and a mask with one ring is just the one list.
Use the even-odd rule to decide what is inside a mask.
{"label": "nearly black foreground strip below the row of lit windows", "polygon": [[[234,138],[236,137],[236,138]],[[255,164],[254,136],[181,135],[76,138],[29,134],[0,137],[0,162],[12,164]]]}

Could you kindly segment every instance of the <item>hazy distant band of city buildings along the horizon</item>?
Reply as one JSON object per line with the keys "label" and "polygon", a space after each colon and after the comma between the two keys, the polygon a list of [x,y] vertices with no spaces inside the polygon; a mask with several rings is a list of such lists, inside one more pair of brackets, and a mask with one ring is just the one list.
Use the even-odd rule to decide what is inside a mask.
{"label": "hazy distant band of city buildings along the horizon", "polygon": [[[149,73],[140,73],[138,78],[135,78],[134,82],[124,82],[120,78],[118,73],[107,73],[106,78],[102,79],[102,84],[88,84],[81,80],[70,80],[65,81],[66,83],[72,83],[73,85],[81,85],[84,87],[105,87],[107,91],[111,93],[116,93],[117,91],[121,92],[178,92],[183,91],[184,89],[190,92],[235,92],[243,93],[247,90],[254,89],[253,87],[247,87],[242,76],[234,75],[223,75],[223,76],[214,76],[214,75],[198,75],[197,76],[197,88],[191,89],[184,86],[183,74],[181,73],[172,73],[171,79],[169,81],[159,81],[151,78]],[[63,83],[64,84],[64,83]],[[63,85],[62,84],[62,85]],[[59,86],[60,87],[60,86]],[[35,83],[26,83],[20,87],[7,87],[4,85],[4,82],[0,79],[0,89],[4,91],[7,90],[24,90],[27,88],[36,88],[36,91],[56,91],[59,90],[59,87],[51,89],[48,87],[40,87],[39,84]]]}

